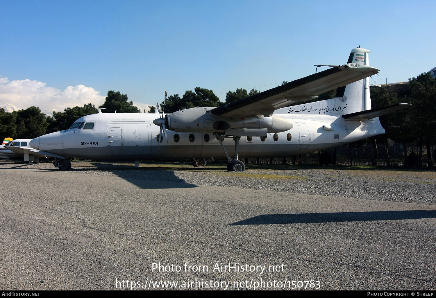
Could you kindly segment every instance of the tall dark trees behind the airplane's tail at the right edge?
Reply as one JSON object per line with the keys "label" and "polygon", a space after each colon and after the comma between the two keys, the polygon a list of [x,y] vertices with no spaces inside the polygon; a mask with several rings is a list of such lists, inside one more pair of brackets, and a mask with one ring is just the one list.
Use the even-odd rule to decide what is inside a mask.
{"label": "tall dark trees behind the airplane's tail at the right edge", "polygon": [[[370,92],[372,108],[402,102],[412,104],[410,108],[380,117],[386,133],[375,137],[372,142],[385,144],[388,164],[389,148],[394,143],[399,143],[403,144],[405,165],[422,166],[422,148],[426,146],[427,163],[433,166],[431,149],[436,140],[436,79],[430,73],[422,73],[409,79],[409,84],[371,86]],[[406,144],[410,143],[416,143],[419,149],[408,156]]]}

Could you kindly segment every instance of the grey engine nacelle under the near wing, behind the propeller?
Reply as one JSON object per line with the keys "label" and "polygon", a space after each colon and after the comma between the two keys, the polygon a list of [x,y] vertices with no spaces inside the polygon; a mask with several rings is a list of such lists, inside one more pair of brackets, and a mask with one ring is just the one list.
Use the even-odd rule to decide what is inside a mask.
{"label": "grey engine nacelle under the near wing, behind the propeller", "polygon": [[176,132],[221,132],[225,135],[265,136],[293,128],[291,122],[277,115],[226,118],[214,115],[214,107],[187,108],[165,115],[165,126]]}

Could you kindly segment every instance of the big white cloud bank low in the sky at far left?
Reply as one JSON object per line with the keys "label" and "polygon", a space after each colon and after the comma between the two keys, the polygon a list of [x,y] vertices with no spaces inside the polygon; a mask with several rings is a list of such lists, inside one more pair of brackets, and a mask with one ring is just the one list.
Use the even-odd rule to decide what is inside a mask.
{"label": "big white cloud bank low in the sky at far left", "polygon": [[46,87],[40,81],[15,80],[0,78],[0,100],[20,108],[32,105],[47,111],[63,111],[67,107],[83,106],[89,102],[96,107],[101,105],[106,96],[100,91],[84,85],[68,86],[64,91]]}

